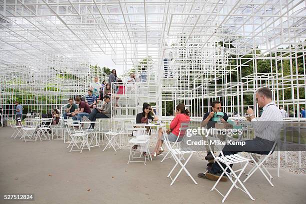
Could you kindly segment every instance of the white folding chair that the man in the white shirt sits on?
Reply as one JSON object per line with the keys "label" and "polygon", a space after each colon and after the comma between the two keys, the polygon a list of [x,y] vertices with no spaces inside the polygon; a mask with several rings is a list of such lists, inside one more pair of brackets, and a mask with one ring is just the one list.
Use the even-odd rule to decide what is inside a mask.
{"label": "white folding chair that the man in the white shirt sits on", "polygon": [[[258,157],[257,154],[252,154],[252,153],[248,153],[249,157],[251,158],[251,160],[254,163],[254,166],[249,170],[249,172],[246,174],[247,177],[243,180],[243,182],[245,182],[257,169],[260,170],[260,172],[263,174],[263,176],[265,177],[265,179],[270,183],[271,186],[274,187],[273,183],[271,182],[271,179],[273,179],[272,175],[269,173],[269,171],[266,169],[266,167],[264,166],[264,161],[266,161],[266,159],[269,157],[269,155],[271,155],[271,153],[273,152],[275,146],[276,146],[277,141],[274,141],[273,146],[271,148],[271,150],[269,151],[269,153],[267,155],[260,155],[260,157]],[[262,170],[262,168],[264,169],[264,171]],[[268,176],[269,177],[268,177]]]}

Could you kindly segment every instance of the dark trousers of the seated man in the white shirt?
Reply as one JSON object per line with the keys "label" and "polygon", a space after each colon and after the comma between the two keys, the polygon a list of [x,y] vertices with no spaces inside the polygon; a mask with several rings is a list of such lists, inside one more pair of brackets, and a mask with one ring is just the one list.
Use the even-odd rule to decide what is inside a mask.
{"label": "dark trousers of the seated man in the white shirt", "polygon": [[[255,137],[254,139],[244,140],[245,145],[232,145],[232,144],[225,144],[222,149],[223,155],[235,154],[241,151],[250,152],[250,153],[258,153],[258,154],[268,154],[274,144],[274,141],[262,139],[260,137]],[[221,156],[221,153],[219,154]],[[223,168],[226,167],[224,163],[220,164]],[[232,164],[230,165],[230,167]],[[211,173],[221,172],[222,168],[219,166],[217,162],[212,164],[212,168],[210,170]],[[226,171],[230,171],[227,169]]]}

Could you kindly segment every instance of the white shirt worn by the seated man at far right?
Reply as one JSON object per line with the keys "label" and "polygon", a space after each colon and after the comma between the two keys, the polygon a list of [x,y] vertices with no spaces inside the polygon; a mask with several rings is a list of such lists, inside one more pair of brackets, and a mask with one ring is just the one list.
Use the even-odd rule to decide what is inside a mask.
{"label": "white shirt worn by the seated man at far right", "polygon": [[280,136],[283,118],[277,106],[270,102],[263,106],[261,116],[251,119],[256,137],[275,141]]}

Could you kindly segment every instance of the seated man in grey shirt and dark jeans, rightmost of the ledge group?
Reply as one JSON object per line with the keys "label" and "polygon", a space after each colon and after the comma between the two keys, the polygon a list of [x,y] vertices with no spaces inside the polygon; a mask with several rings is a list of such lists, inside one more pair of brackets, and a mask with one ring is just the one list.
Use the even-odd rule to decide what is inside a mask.
{"label": "seated man in grey shirt and dark jeans, rightmost of the ledge group", "polygon": [[[110,104],[110,96],[104,95],[104,104],[102,107],[96,107],[92,110],[89,115],[83,116],[84,121],[94,122],[96,118],[110,118],[111,117],[111,104]],[[91,123],[92,129],[94,128],[94,123]]]}

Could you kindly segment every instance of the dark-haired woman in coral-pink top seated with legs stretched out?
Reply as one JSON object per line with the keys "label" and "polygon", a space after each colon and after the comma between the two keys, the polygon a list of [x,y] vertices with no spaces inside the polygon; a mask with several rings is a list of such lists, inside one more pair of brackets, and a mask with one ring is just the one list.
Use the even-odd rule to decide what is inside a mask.
{"label": "dark-haired woman in coral-pink top seated with legs stretched out", "polygon": [[[174,113],[174,118],[170,123],[170,128],[166,130],[167,138],[169,139],[169,141],[175,142],[175,141],[181,141],[183,139],[186,130],[182,130],[179,132],[179,127],[180,123],[190,121],[189,115],[190,112],[187,109],[185,109],[185,105],[183,103],[178,104],[176,106],[176,111]],[[151,156],[157,156],[163,151],[162,143],[163,143],[163,131],[161,128],[159,128],[158,140],[155,149],[151,153]]]}

